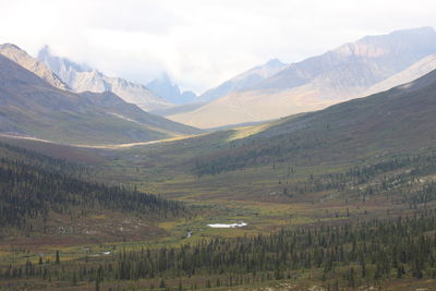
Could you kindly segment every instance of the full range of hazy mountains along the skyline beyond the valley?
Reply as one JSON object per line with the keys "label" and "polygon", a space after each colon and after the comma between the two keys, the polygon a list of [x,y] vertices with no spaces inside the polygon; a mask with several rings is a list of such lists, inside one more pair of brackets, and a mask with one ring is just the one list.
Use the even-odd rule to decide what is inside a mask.
{"label": "full range of hazy mountains along the skyline beyond the valley", "polygon": [[[436,32],[367,36],[291,64],[272,59],[201,96],[182,93],[167,74],[147,86],[108,77],[52,56],[48,47],[38,59],[10,44],[0,46],[0,54],[2,132],[62,143],[132,143],[201,133],[194,124],[229,128],[314,111],[412,82],[436,69]],[[145,112],[152,109],[172,121]]]}

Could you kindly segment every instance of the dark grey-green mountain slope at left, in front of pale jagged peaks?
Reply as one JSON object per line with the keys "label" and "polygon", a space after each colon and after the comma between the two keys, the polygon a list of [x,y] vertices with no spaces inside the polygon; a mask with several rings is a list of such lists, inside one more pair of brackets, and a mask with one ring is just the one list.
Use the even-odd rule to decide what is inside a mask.
{"label": "dark grey-green mountain slope at left, in front of pale jagged peaks", "polygon": [[146,113],[116,95],[77,95],[56,88],[0,56],[0,132],[69,144],[111,144],[198,130]]}

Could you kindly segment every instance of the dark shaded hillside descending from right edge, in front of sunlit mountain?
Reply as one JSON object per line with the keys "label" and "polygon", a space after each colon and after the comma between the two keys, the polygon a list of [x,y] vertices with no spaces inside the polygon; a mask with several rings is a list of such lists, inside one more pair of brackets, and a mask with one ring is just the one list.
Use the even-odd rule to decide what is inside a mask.
{"label": "dark shaded hillside descending from right edge, in front of sunlit mountain", "polygon": [[[320,111],[198,137],[219,138],[221,146],[193,157],[192,165],[196,165],[197,174],[274,162],[332,168],[360,165],[400,154],[426,153],[435,145],[434,129],[436,70],[411,83]],[[191,144],[201,148],[199,142]]]}

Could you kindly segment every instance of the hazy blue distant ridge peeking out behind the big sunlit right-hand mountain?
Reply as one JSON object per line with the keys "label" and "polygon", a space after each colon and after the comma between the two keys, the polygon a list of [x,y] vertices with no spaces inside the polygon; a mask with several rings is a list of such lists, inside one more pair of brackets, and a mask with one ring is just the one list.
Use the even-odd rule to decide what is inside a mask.
{"label": "hazy blue distant ridge peeking out behind the big sunlit right-hand mountain", "polygon": [[269,60],[263,65],[255,66],[222,83],[218,87],[207,90],[202,96],[199,96],[199,100],[206,102],[213,101],[230,93],[245,90],[261,83],[262,81],[277,74],[286,66],[287,64],[280,62],[278,59]]}

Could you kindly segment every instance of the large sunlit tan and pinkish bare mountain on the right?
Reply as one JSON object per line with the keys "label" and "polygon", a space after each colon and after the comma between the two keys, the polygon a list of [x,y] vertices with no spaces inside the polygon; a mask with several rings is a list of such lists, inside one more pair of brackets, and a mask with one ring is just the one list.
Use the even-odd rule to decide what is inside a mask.
{"label": "large sunlit tan and pinkish bare mountain on the right", "polygon": [[319,110],[364,96],[378,83],[435,52],[436,32],[431,27],[367,36],[289,64],[250,87],[169,118],[198,128],[216,128]]}

